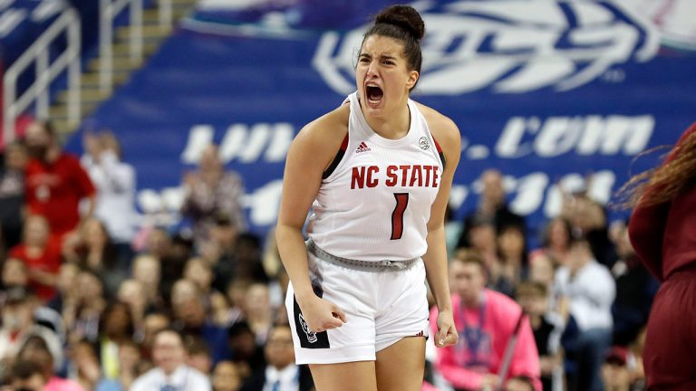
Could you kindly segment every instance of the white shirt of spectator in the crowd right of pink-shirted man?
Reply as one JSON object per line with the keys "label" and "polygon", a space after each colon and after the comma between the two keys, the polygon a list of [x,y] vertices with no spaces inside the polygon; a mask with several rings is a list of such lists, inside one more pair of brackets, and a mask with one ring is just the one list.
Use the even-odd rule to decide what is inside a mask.
{"label": "white shirt of spectator in the crowd right of pink-shirted man", "polygon": [[578,269],[575,276],[570,275],[567,267],[559,268],[556,291],[570,301],[570,314],[580,330],[612,328],[616,284],[604,265],[592,260]]}

